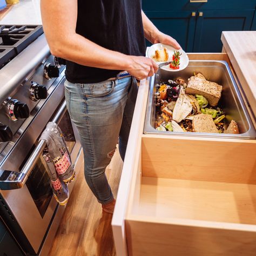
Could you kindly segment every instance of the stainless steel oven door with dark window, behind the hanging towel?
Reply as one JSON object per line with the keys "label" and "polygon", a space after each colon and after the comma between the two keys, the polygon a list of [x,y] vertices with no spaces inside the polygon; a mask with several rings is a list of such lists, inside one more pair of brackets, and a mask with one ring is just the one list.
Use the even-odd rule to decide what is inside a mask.
{"label": "stainless steel oven door with dark window, behind the hanging towel", "polygon": [[[63,89],[63,86],[60,88]],[[51,111],[51,109],[46,110],[48,113]],[[55,112],[55,114],[50,119],[47,114],[38,115],[39,118],[36,118],[28,127],[28,131],[24,133],[15,150],[10,153],[1,166],[2,170],[16,172],[23,170],[25,166],[30,166],[30,175],[25,185],[15,190],[2,190],[2,204],[0,203],[1,216],[4,215],[5,221],[8,222],[6,225],[10,227],[23,250],[30,254],[36,254],[39,251],[58,208],[57,201],[52,195],[50,178],[42,157],[42,149],[38,150],[42,142],[38,143],[39,134],[42,133],[45,125],[50,120],[56,122],[56,119],[58,119],[56,123],[64,134],[71,152],[72,164],[76,162],[81,148],[77,130],[71,123],[65,102],[60,104],[56,111],[53,110],[52,112]],[[34,140],[32,137],[35,133],[38,133],[38,127],[41,127],[41,132]]]}

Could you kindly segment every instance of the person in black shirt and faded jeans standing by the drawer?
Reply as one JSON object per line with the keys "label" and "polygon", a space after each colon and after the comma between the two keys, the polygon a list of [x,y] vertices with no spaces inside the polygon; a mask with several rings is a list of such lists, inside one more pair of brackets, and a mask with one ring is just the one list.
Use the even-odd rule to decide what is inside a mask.
{"label": "person in black shirt and faded jeans standing by the drawer", "polygon": [[[140,0],[41,0],[43,28],[52,55],[66,62],[65,98],[84,150],[85,179],[103,211],[114,198],[105,168],[119,137],[124,160],[136,79],[158,65],[145,55],[145,38],[179,49],[145,16]],[[122,72],[127,71],[127,72]]]}

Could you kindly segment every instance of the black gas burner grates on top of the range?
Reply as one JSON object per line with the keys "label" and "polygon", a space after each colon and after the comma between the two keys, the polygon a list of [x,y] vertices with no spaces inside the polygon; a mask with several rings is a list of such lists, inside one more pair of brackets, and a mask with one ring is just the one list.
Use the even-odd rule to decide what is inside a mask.
{"label": "black gas burner grates on top of the range", "polygon": [[41,25],[2,25],[0,26],[0,47],[15,48],[18,54],[42,33]]}

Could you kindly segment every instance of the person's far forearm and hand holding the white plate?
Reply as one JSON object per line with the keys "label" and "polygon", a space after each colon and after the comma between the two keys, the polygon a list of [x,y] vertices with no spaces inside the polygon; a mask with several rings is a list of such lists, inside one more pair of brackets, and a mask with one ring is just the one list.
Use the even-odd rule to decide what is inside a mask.
{"label": "person's far forearm and hand holding the white plate", "polygon": [[156,44],[156,43],[169,44],[174,48],[176,48],[177,50],[181,48],[178,42],[174,38],[160,32],[156,28],[156,26],[150,21],[150,19],[147,18],[147,16],[144,14],[143,11],[142,11],[142,21],[143,21],[143,28],[144,28],[144,36],[152,44]]}

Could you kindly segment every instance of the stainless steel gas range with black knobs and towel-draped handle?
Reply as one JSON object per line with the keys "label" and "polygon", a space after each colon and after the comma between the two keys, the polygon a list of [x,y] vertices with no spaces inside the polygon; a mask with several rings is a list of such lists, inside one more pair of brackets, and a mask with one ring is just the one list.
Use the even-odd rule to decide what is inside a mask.
{"label": "stainless steel gas range with black knobs and towel-draped handle", "polygon": [[48,254],[65,208],[52,196],[45,144],[38,143],[49,121],[62,129],[76,171],[83,162],[62,64],[50,54],[42,26],[0,25],[0,212],[25,255]]}

